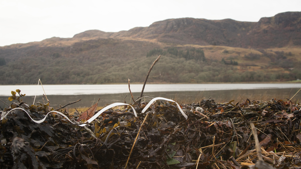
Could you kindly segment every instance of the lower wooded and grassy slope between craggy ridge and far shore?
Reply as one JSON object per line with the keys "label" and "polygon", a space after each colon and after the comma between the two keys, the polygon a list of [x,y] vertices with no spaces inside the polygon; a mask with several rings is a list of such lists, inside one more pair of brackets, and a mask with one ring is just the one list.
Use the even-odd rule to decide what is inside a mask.
{"label": "lower wooded and grassy slope between craggy ridge and far shore", "polygon": [[[295,80],[301,48],[264,49],[272,57],[247,59],[258,50],[195,44],[167,44],[155,39],[141,38],[50,38],[41,42],[15,44],[0,48],[0,58],[7,65],[0,66],[1,84],[32,84],[37,79],[45,84],[96,84],[143,82],[157,56],[146,57],[154,48],[166,51],[202,48],[206,61],[185,60],[169,53],[154,67],[152,83],[252,82]],[[272,51],[270,51],[272,50]],[[291,52],[286,59],[276,59],[274,51]],[[221,60],[237,61],[238,65],[224,65]],[[293,62],[294,70],[281,68],[277,62]],[[253,65],[253,66],[250,66]]]}

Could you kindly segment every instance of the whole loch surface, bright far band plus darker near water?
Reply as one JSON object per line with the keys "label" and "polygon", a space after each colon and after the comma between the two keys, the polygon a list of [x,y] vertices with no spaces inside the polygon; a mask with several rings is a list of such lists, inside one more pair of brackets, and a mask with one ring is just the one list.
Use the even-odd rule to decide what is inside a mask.
{"label": "whole loch surface, bright far band plus darker near water", "polygon": [[[90,107],[96,103],[98,106],[111,104],[114,102],[131,102],[128,85],[43,85],[45,93],[50,100],[51,106],[59,107],[82,99],[69,107]],[[271,100],[272,98],[291,98],[301,88],[301,83],[277,83],[277,84],[147,84],[144,95],[151,97],[173,98],[182,103],[198,102],[209,97],[217,102],[235,100],[241,102],[244,99],[250,100]],[[22,94],[26,94],[23,101],[33,104],[37,85],[8,85],[0,86],[0,99],[7,104],[11,90],[20,89]],[[134,98],[140,96],[141,84],[132,84],[131,91]],[[42,86],[39,85],[36,102],[42,102]],[[293,100],[301,101],[301,92],[294,96]],[[4,103],[0,101],[0,106]],[[7,106],[6,106],[7,107]]]}

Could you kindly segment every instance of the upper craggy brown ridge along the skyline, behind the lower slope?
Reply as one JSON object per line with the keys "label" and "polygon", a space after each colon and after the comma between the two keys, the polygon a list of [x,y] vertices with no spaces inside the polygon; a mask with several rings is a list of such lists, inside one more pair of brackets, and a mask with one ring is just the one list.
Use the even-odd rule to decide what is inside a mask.
{"label": "upper craggy brown ridge along the skyline, behind the lower slope", "polygon": [[[242,22],[232,19],[166,19],[154,22],[148,27],[135,27],[128,31],[87,30],[72,38],[57,38],[57,41],[76,42],[95,38],[141,38],[155,39],[158,42],[170,44],[243,48],[301,46],[301,12],[279,13],[274,17],[262,17],[258,22]],[[53,38],[45,40],[49,41],[49,39],[53,40]],[[45,40],[43,41],[45,42]],[[41,43],[44,43],[43,41]],[[38,42],[29,43],[38,44]]]}

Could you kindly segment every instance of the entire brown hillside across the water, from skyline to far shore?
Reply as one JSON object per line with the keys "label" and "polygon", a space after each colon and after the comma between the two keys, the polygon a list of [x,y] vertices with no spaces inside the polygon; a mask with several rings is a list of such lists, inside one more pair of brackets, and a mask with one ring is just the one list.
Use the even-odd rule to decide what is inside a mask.
{"label": "entire brown hillside across the water, from skyline to far shore", "polygon": [[0,84],[262,82],[301,79],[301,12],[259,22],[180,18],[129,31],[0,47]]}

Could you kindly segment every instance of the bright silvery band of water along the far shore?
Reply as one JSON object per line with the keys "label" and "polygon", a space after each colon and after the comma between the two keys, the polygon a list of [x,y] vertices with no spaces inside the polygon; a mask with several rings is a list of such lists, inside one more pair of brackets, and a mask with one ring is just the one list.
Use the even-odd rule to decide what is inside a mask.
{"label": "bright silvery band of water along the far shore", "polygon": [[[132,84],[131,91],[141,92],[142,84]],[[95,95],[117,94],[129,92],[127,84],[113,85],[43,85],[46,95]],[[301,88],[301,83],[261,83],[261,84],[147,84],[144,92],[181,92],[181,91],[213,91],[237,89],[291,89]],[[43,95],[39,85],[3,85],[0,96],[10,96],[12,90],[20,89],[28,96]],[[36,92],[36,90],[38,91]]]}

